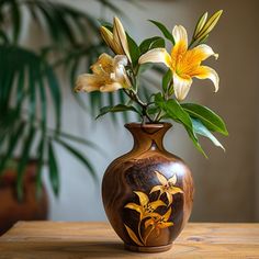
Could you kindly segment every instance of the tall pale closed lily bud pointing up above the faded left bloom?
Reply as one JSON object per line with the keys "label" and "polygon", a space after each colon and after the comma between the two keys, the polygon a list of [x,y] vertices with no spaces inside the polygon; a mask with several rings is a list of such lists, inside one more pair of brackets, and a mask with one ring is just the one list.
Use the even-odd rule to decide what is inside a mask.
{"label": "tall pale closed lily bud pointing up above the faded left bloom", "polygon": [[114,36],[115,42],[121,43],[121,46],[122,46],[124,53],[126,54],[128,60],[132,61],[131,55],[130,55],[130,49],[128,49],[128,44],[127,44],[126,33],[124,31],[124,27],[123,27],[121,21],[116,16],[114,18],[113,29],[114,29],[113,36]]}

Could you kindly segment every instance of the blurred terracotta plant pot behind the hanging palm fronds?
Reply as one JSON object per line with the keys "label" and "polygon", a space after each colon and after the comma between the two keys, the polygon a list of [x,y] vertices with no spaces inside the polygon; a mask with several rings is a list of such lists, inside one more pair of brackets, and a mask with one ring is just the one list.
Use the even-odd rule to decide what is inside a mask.
{"label": "blurred terracotta plant pot behind the hanging palm fronds", "polygon": [[0,178],[0,235],[18,221],[42,221],[47,218],[47,193],[36,198],[36,161],[31,160],[23,179],[23,200],[16,196],[16,172],[7,169]]}

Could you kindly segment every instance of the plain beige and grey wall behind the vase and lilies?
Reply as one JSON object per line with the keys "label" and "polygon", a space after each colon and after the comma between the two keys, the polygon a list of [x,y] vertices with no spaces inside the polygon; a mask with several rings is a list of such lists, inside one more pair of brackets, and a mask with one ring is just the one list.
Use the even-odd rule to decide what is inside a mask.
{"label": "plain beige and grey wall behind the vase and lilies", "polygon": [[[64,0],[65,2],[65,0]],[[101,13],[94,1],[74,0],[66,2],[85,10],[91,10],[98,16]],[[226,120],[229,137],[219,139],[226,147],[226,154],[202,140],[210,154],[203,158],[188,139],[184,131],[176,125],[168,134],[166,146],[189,164],[195,181],[195,201],[193,221],[243,222],[259,219],[258,170],[258,44],[259,10],[258,0],[171,0],[138,1],[144,8],[134,8],[120,3],[132,23],[132,34],[142,40],[157,34],[147,19],[159,20],[169,27],[183,24],[193,30],[194,22],[203,11],[224,10],[218,26],[212,33],[210,44],[219,53],[217,61],[209,64],[221,76],[221,89],[213,93],[210,81],[196,81],[189,100],[214,109]],[[109,12],[105,13],[111,19]],[[122,123],[114,126],[109,117],[91,123],[89,115],[75,104],[68,91],[65,93],[64,126],[66,131],[91,137],[106,149],[106,157],[91,150],[85,150],[94,161],[100,179],[109,162],[131,148],[132,139]],[[116,145],[114,145],[116,143]],[[59,150],[61,162],[61,195],[52,196],[52,219],[104,219],[100,190],[94,188],[85,169]],[[258,198],[258,199],[256,199]]]}

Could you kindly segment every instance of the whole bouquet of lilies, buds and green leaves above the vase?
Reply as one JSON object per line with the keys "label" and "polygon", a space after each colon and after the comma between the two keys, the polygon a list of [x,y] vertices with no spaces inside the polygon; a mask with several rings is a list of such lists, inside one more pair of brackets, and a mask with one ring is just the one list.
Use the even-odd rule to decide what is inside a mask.
{"label": "whole bouquet of lilies, buds and green leaves above the vase", "polygon": [[[222,10],[207,18],[205,12],[198,21],[189,43],[187,30],[176,25],[172,33],[160,22],[151,21],[162,36],[144,40],[139,45],[125,32],[121,21],[114,18],[113,25],[102,25],[101,35],[115,56],[102,54],[91,66],[92,74],[78,77],[75,90],[113,92],[123,91],[128,97],[127,103],[104,106],[99,116],[109,112],[132,111],[142,117],[143,123],[160,123],[164,120],[174,121],[183,125],[194,146],[203,151],[198,135],[209,137],[216,146],[224,147],[212,134],[228,135],[224,121],[212,110],[196,103],[182,102],[191,88],[193,78],[210,79],[218,90],[217,72],[202,61],[211,56],[215,58],[212,47],[205,44],[211,31],[222,15]],[[171,44],[170,53],[166,49],[166,41]],[[139,78],[143,72],[164,64],[167,68],[162,76],[159,91],[150,93],[143,100],[138,93]]]}

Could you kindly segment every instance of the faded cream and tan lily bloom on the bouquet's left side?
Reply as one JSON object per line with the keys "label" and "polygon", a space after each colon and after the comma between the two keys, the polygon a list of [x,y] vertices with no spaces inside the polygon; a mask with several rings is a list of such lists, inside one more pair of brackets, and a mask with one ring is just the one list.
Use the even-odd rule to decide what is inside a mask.
{"label": "faded cream and tan lily bloom on the bouquet's left side", "polygon": [[102,54],[91,66],[93,74],[83,74],[78,77],[75,91],[112,92],[131,87],[125,70],[126,65],[126,56],[117,55],[112,58],[108,54]]}

